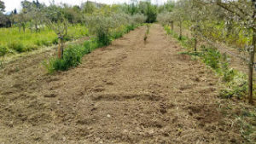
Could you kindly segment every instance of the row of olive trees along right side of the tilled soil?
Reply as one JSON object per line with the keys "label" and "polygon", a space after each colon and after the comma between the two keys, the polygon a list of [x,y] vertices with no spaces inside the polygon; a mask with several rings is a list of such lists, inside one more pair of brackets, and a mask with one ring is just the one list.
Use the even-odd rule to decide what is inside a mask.
{"label": "row of olive trees along right side of the tilled soil", "polygon": [[177,22],[182,38],[182,26],[189,26],[195,39],[207,37],[247,52],[248,100],[253,103],[253,66],[256,43],[255,0],[179,0],[170,11],[159,14],[158,20],[165,25]]}

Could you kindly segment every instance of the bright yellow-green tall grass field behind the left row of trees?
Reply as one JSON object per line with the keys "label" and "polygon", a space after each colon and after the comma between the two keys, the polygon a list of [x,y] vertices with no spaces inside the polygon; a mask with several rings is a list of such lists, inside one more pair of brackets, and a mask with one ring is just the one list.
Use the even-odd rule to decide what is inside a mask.
{"label": "bright yellow-green tall grass field behind the left row of trees", "polygon": [[[68,27],[68,39],[88,36],[88,29],[81,25]],[[47,27],[40,32],[19,32],[18,27],[0,28],[0,56],[8,53],[22,53],[57,43],[57,35]],[[9,49],[6,52],[6,49]],[[4,52],[4,53],[3,53]]]}

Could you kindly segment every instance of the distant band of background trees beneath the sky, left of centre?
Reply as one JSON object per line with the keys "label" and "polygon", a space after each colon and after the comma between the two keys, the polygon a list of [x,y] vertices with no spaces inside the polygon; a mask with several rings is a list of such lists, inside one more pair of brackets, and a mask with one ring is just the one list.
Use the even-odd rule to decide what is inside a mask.
{"label": "distant band of background trees beneath the sky, left of centre", "polygon": [[[95,13],[109,13],[111,11],[121,12],[126,14],[144,14],[147,16],[147,22],[154,22],[156,20],[157,12],[160,11],[157,6],[151,4],[150,2],[138,2],[136,0],[131,4],[119,4],[108,6],[100,3],[86,2],[80,6],[69,6],[67,4],[62,4],[61,6],[56,6],[54,1],[50,6],[40,3],[38,0],[29,2],[24,0],[21,2],[21,11],[18,14],[17,10],[13,10],[10,14],[3,14],[4,3],[0,0],[0,27],[10,27],[19,26],[20,30],[26,31],[26,28],[30,28],[35,32],[38,32],[40,25],[44,25],[45,14],[49,12],[49,9],[57,9],[61,11],[65,19],[70,24],[84,23],[86,16]],[[54,8],[53,8],[54,7]],[[48,15],[49,17],[49,15]]]}

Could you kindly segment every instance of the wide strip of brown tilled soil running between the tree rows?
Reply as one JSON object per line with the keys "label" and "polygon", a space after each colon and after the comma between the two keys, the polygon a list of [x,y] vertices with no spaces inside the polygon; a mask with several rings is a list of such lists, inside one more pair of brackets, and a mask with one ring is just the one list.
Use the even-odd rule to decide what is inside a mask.
{"label": "wide strip of brown tilled soil running between the tree rows", "polygon": [[[1,74],[0,142],[241,143],[219,112],[218,78],[159,25],[139,27],[68,72]],[[9,66],[10,67],[10,66]]]}

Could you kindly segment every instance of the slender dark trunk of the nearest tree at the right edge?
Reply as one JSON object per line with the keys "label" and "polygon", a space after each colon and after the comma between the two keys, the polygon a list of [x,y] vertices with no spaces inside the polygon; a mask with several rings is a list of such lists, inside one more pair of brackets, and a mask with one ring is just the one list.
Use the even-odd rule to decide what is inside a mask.
{"label": "slender dark trunk of the nearest tree at the right edge", "polygon": [[249,61],[249,79],[248,79],[248,101],[250,104],[253,104],[253,64],[254,64],[254,55],[256,50],[256,30],[253,31],[253,49],[250,51],[250,61]]}

